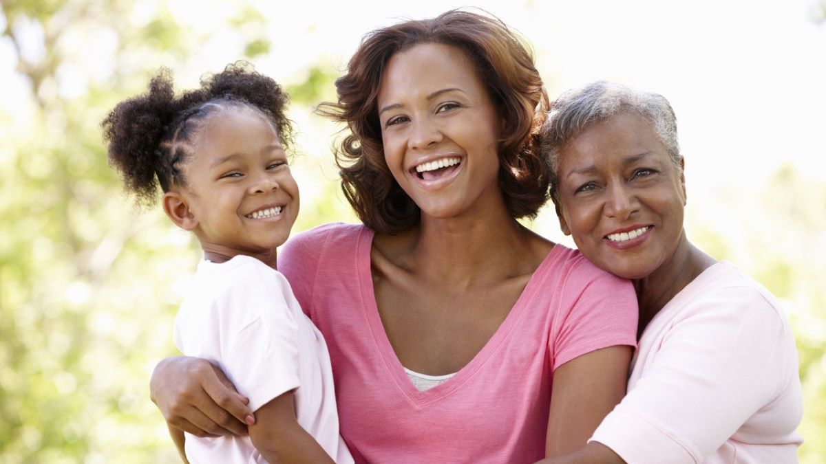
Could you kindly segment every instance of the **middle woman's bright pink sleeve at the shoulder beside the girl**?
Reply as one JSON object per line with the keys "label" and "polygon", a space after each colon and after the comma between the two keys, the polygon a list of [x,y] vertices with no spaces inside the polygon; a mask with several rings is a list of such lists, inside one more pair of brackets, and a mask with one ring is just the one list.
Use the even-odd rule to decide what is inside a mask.
{"label": "middle woman's bright pink sleeve at the shoulder beside the girl", "polygon": [[321,225],[297,234],[278,251],[278,271],[287,277],[298,304],[311,319],[318,263],[334,226]]}

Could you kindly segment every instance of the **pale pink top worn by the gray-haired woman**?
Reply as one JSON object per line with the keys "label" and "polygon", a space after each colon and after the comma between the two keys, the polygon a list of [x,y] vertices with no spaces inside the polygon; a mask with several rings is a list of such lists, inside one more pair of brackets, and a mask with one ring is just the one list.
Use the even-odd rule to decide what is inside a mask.
{"label": "pale pink top worn by the gray-haired woman", "polygon": [[594,441],[629,464],[797,462],[797,351],[769,292],[716,263],[648,324],[628,395]]}

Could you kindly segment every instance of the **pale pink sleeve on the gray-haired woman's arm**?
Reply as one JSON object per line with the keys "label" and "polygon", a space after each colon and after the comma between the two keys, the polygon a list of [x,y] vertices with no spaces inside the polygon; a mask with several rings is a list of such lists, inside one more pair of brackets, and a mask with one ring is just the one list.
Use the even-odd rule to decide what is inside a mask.
{"label": "pale pink sleeve on the gray-haired woman's arm", "polygon": [[781,315],[748,286],[719,293],[668,328],[592,441],[630,464],[703,462],[780,391]]}

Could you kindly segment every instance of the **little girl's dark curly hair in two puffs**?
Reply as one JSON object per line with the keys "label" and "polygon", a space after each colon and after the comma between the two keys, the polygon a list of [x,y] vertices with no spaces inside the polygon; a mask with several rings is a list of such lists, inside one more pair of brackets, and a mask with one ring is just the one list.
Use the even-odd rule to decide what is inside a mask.
{"label": "little girl's dark curly hair in two puffs", "polygon": [[176,97],[168,69],[152,78],[149,92],[120,102],[102,122],[109,163],[127,192],[152,205],[158,187],[183,186],[181,167],[192,155],[195,137],[207,116],[230,107],[259,111],[278,132],[285,148],[292,144],[292,121],[284,115],[287,93],[272,78],[244,62],[230,64],[201,80],[201,88]]}

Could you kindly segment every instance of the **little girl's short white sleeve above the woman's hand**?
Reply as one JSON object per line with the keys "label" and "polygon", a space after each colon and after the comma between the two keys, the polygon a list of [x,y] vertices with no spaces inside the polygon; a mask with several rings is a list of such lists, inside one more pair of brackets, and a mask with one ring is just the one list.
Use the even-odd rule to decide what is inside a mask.
{"label": "little girl's short white sleeve above the woman's hand", "polygon": [[249,398],[249,408],[258,410],[300,386],[298,326],[281,288],[286,282],[272,269],[241,268],[226,276],[232,285],[225,305],[234,314],[223,317],[239,322],[221,324],[226,332],[221,334],[221,363],[230,381]]}

